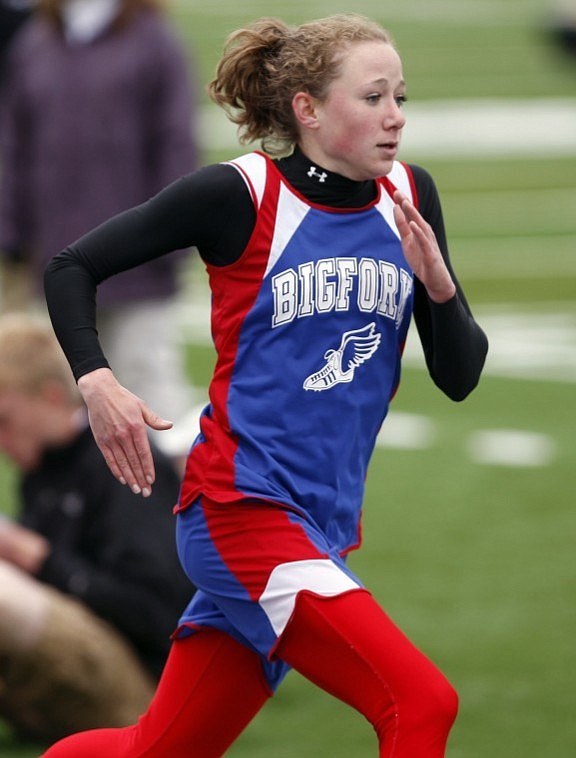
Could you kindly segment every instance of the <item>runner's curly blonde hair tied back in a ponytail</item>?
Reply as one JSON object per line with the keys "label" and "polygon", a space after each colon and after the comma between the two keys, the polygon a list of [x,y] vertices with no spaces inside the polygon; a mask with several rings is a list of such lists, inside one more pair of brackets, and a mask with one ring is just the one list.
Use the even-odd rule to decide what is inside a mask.
{"label": "runner's curly blonde hair tied back in a ponytail", "polygon": [[228,37],[208,93],[238,125],[240,142],[261,140],[269,153],[281,154],[298,141],[294,95],[322,101],[346,51],[366,41],[393,44],[379,24],[355,13],[296,27],[261,18]]}

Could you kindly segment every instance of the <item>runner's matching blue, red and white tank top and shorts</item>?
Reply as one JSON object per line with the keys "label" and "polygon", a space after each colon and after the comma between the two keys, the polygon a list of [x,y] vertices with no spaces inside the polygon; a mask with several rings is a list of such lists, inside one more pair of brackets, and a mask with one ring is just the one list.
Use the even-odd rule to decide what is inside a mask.
{"label": "runner's matching blue, red and white tank top and shorts", "polygon": [[[197,501],[180,519],[181,555],[206,591],[182,623],[213,625],[222,615],[220,628],[268,657],[299,591],[360,586],[341,556],[360,542],[366,470],[398,384],[412,275],[390,179],[367,207],[342,210],[306,201],[261,154],[232,165],[257,222],[235,265],[208,266],[218,363],[179,506]],[[393,174],[411,194],[408,170],[396,164]],[[261,516],[271,503],[273,515]],[[256,549],[264,525],[266,544]]]}

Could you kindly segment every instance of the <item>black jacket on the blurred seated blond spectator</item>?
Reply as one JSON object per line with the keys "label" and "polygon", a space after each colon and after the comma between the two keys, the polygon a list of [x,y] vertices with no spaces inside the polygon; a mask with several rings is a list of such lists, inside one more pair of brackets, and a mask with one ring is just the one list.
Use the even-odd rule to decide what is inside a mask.
{"label": "black jacket on the blurred seated blond spectator", "polygon": [[20,521],[52,546],[39,580],[110,622],[157,676],[193,587],[175,547],[179,476],[154,455],[156,482],[143,499],[112,476],[87,428],[24,476]]}

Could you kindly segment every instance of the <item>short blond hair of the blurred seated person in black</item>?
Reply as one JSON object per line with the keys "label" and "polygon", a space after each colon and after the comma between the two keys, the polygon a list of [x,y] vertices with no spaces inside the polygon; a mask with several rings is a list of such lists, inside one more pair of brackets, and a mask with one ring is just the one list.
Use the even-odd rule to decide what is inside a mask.
{"label": "short blond hair of the blurred seated person in black", "polygon": [[80,394],[49,324],[39,317],[10,313],[0,317],[0,389],[38,394],[57,382],[74,404]]}

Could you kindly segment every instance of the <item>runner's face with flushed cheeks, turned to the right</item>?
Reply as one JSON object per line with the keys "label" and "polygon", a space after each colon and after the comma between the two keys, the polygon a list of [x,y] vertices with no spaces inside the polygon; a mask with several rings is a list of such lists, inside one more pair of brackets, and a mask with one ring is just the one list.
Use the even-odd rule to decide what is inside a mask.
{"label": "runner's face with flushed cheeks, turned to the right", "polygon": [[391,45],[353,44],[326,99],[315,101],[317,125],[304,143],[308,157],[357,181],[385,176],[405,123],[405,90],[402,63]]}

